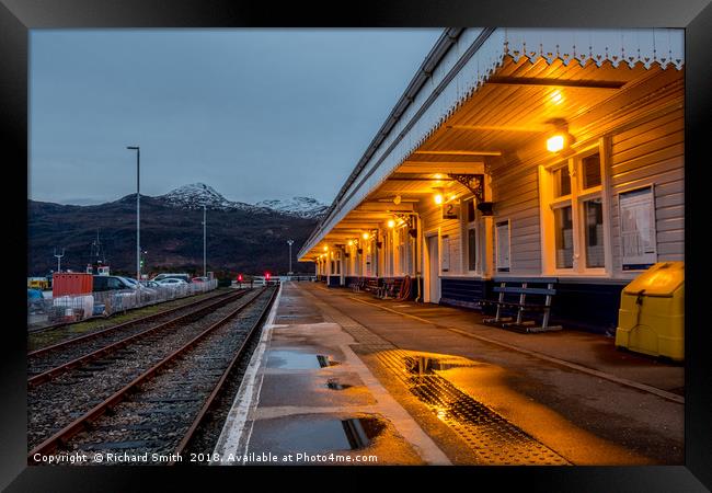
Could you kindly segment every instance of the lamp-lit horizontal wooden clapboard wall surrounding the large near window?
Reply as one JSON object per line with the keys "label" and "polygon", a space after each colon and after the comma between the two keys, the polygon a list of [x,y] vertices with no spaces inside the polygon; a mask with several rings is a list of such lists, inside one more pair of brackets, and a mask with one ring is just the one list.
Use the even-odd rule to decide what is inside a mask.
{"label": "lamp-lit horizontal wooden clapboard wall surrounding the large near window", "polygon": [[[606,138],[610,176],[612,276],[621,271],[620,191],[655,185],[658,261],[684,260],[684,72],[647,77],[571,123],[577,147]],[[572,130],[574,131],[574,130]],[[495,222],[510,220],[510,274],[541,274],[539,164],[552,164],[541,144],[490,160]]]}

